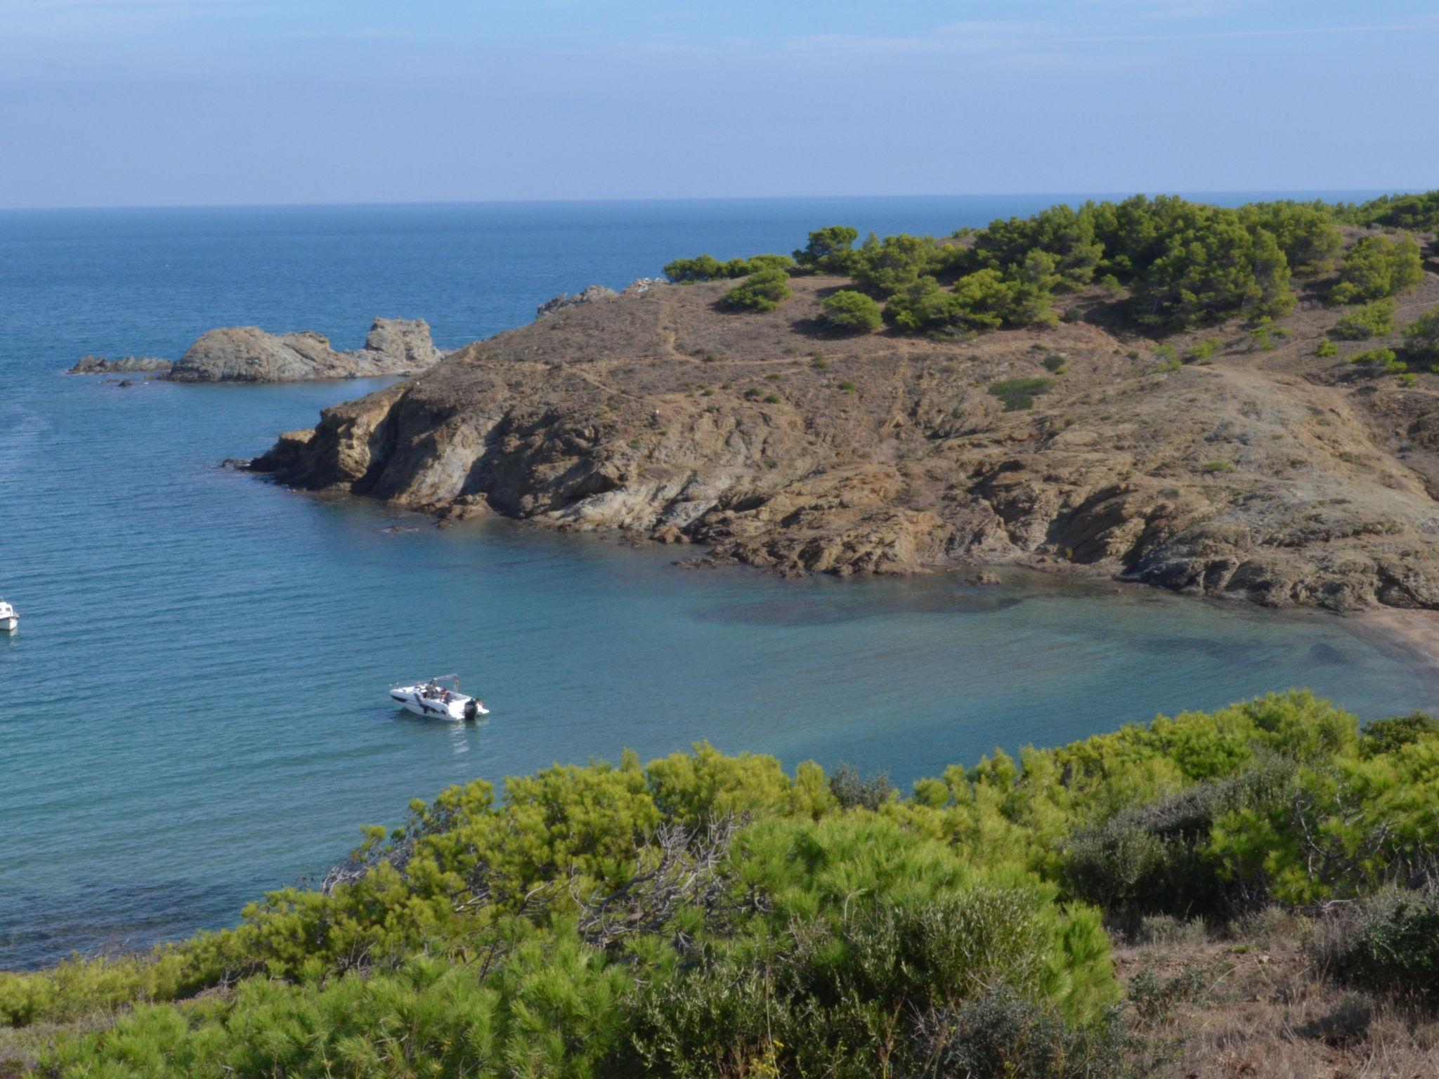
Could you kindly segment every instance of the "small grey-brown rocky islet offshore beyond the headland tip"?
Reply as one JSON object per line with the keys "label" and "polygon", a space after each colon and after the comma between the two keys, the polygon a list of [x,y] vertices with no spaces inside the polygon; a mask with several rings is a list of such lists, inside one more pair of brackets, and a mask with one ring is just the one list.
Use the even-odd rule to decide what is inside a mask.
{"label": "small grey-brown rocky islet offshore beyond the headland tip", "polygon": [[204,334],[174,363],[88,355],[71,374],[144,371],[176,383],[294,383],[413,374],[442,357],[425,319],[377,318],[364,347],[350,351],[337,351],[328,338],[311,331],[269,334],[259,327],[226,327]]}

